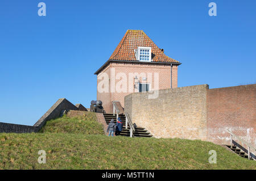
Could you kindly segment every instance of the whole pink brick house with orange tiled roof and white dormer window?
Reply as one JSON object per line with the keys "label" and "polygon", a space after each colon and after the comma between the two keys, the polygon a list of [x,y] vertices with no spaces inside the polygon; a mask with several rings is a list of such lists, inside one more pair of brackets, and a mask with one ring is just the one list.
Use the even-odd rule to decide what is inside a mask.
{"label": "whole pink brick house with orange tiled roof and white dormer window", "polygon": [[177,66],[181,63],[164,54],[142,30],[128,30],[109,60],[96,71],[97,99],[106,112],[113,101],[124,107],[132,92],[177,87]]}

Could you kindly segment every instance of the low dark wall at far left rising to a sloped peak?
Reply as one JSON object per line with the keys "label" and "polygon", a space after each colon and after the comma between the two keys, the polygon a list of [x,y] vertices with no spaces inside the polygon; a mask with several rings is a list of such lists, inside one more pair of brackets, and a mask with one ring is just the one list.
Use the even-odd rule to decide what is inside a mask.
{"label": "low dark wall at far left rising to a sloped peak", "polygon": [[60,116],[61,111],[63,110],[75,110],[77,111],[79,108],[74,106],[67,99],[62,98],[57,100],[55,104],[33,125],[20,125],[20,124],[10,124],[10,123],[0,123],[0,133],[31,133],[38,132],[46,121],[51,119],[56,119]]}

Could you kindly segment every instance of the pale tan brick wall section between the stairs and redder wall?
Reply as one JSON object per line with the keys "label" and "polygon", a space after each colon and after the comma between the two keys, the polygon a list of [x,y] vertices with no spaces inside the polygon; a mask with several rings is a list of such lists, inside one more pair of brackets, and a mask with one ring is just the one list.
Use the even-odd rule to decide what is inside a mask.
{"label": "pale tan brick wall section between the stairs and redder wall", "polygon": [[133,123],[146,128],[154,137],[207,140],[208,85],[159,90],[125,96],[125,112]]}

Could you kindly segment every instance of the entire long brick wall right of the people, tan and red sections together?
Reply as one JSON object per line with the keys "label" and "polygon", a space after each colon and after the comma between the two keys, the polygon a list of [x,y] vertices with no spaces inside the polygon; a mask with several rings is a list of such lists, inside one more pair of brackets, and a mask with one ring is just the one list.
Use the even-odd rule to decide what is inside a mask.
{"label": "entire long brick wall right of the people, tan and red sections together", "polygon": [[219,89],[208,89],[208,85],[164,89],[159,90],[156,99],[148,99],[148,94],[125,96],[125,112],[133,123],[146,128],[154,137],[230,144],[228,128],[255,148],[255,84]]}

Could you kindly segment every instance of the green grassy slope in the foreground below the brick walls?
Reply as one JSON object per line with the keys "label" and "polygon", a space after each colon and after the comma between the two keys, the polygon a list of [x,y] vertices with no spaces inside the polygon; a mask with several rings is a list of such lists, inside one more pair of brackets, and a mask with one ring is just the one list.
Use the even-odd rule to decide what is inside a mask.
{"label": "green grassy slope in the foreground below the brick walls", "polygon": [[[93,116],[48,121],[42,133],[1,133],[0,169],[256,169],[210,142],[107,137]],[[39,150],[46,164],[37,162]],[[209,150],[217,164],[208,162]]]}

